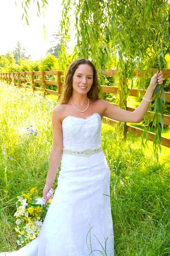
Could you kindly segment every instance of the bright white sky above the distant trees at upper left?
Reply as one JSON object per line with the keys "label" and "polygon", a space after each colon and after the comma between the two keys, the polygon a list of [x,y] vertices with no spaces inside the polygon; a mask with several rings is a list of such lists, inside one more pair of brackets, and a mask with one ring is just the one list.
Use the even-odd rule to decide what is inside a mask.
{"label": "bright white sky above the distant trees at upper left", "polygon": [[[23,26],[23,8],[21,0],[2,1],[0,6],[0,55],[14,51],[17,41],[26,46],[28,54],[33,60],[44,57],[50,47],[51,35],[59,29],[59,20],[62,11],[62,0],[48,0],[45,10],[46,39],[44,40],[43,16],[37,17],[37,1],[28,12],[29,26]],[[33,1],[31,1],[33,3]],[[40,3],[41,1],[39,1]],[[41,4],[40,4],[41,6]],[[71,42],[68,47],[74,47],[74,32],[71,33]]]}

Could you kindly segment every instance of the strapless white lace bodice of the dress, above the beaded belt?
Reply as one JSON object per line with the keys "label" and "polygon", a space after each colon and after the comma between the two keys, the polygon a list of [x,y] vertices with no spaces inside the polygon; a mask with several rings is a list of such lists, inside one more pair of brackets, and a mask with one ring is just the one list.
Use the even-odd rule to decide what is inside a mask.
{"label": "strapless white lace bodice of the dress, above the beaded belt", "polygon": [[94,113],[86,119],[67,116],[62,121],[63,146],[71,150],[101,146],[101,116]]}

